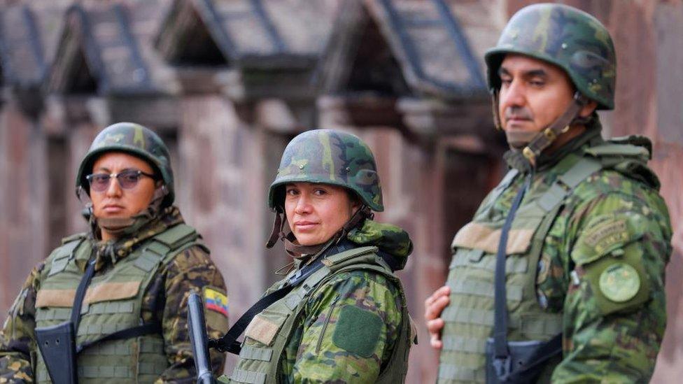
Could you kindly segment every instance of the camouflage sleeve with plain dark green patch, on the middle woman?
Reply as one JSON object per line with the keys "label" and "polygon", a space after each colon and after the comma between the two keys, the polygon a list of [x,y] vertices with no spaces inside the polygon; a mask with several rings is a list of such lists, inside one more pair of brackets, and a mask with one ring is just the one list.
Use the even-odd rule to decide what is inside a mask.
{"label": "camouflage sleeve with plain dark green patch, on the middle woman", "polygon": [[[290,377],[295,383],[372,383],[401,322],[397,287],[368,271],[339,274],[311,297]],[[289,373],[288,373],[289,374]]]}

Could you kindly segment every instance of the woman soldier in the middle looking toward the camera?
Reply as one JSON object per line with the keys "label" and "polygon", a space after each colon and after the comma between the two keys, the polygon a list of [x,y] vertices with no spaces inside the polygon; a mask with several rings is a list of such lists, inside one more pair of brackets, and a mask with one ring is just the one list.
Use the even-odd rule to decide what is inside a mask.
{"label": "woman soldier in the middle looking toward the camera", "polygon": [[[230,378],[238,383],[400,383],[411,327],[402,269],[407,232],[372,221],[383,211],[372,152],[321,129],[295,137],[268,197],[273,234],[294,271],[266,293],[295,287],[253,318]],[[290,232],[283,233],[282,214]]]}

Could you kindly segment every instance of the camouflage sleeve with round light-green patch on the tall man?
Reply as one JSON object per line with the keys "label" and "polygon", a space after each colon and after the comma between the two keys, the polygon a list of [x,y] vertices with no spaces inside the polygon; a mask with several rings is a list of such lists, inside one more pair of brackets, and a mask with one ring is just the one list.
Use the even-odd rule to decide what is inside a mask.
{"label": "camouflage sleeve with round light-green patch on the tall man", "polygon": [[[619,190],[619,189],[617,189]],[[566,220],[564,355],[553,383],[647,383],[666,327],[668,211],[628,181],[579,204]],[[540,286],[542,288],[542,286]]]}

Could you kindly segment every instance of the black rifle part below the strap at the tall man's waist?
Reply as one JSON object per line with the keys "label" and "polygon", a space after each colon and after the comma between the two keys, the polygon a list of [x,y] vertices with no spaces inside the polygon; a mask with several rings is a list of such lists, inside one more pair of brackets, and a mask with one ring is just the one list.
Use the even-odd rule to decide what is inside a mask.
{"label": "black rifle part below the strap at the tall man's waist", "polygon": [[495,358],[493,338],[486,340],[486,384],[536,383],[551,358],[562,353],[562,334],[549,341],[508,341],[507,360]]}

